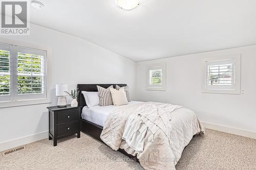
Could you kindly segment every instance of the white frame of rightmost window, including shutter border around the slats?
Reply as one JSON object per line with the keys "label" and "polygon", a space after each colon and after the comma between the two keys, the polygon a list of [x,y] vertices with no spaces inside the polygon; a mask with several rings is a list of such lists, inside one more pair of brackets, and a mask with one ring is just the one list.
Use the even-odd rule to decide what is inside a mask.
{"label": "white frame of rightmost window, including shutter border around the slats", "polygon": [[[209,85],[208,65],[232,63],[232,85]],[[201,91],[204,93],[240,94],[241,88],[241,54],[216,56],[202,59]]]}

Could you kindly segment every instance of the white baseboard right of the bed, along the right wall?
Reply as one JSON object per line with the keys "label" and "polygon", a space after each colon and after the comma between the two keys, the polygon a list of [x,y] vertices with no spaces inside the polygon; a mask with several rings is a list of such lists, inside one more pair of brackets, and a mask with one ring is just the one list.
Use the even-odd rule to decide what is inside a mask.
{"label": "white baseboard right of the bed, along the right wall", "polygon": [[231,133],[234,135],[239,135],[239,136],[256,139],[256,132],[226,127],[226,126],[222,126],[222,125],[211,124],[211,123],[207,123],[207,122],[202,122],[202,124],[206,129],[212,129],[212,130],[217,130],[217,131],[221,131],[221,132],[226,132],[226,133]]}

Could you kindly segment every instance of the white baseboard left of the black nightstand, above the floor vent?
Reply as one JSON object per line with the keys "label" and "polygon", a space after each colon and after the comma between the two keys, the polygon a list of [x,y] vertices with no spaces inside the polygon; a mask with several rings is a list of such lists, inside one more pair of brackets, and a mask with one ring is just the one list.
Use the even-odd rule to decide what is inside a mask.
{"label": "white baseboard left of the black nightstand, above the floor vent", "polygon": [[28,144],[37,140],[46,139],[48,138],[48,135],[49,135],[49,132],[45,131],[45,132],[40,132],[33,135],[20,137],[13,140],[4,141],[0,143],[0,152],[15,148],[15,147],[19,147],[20,145]]}

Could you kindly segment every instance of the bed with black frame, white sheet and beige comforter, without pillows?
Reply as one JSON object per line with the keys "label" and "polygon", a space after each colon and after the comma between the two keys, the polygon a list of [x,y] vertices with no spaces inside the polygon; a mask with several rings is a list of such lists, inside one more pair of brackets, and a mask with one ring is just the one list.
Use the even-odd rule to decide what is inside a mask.
{"label": "bed with black frame, white sheet and beige comforter, without pillows", "polygon": [[[103,141],[113,150],[118,150],[136,161],[138,161],[138,157],[140,164],[145,169],[175,169],[175,165],[180,159],[183,149],[189,143],[191,138],[200,132],[204,132],[204,128],[201,126],[196,114],[193,111],[181,106],[165,103],[144,103],[132,101],[126,106],[112,105],[104,107],[94,106],[88,108],[81,91],[97,91],[97,85],[104,88],[108,88],[109,86],[113,85],[115,88],[115,84],[77,85],[79,90],[78,106],[82,106],[81,131],[100,141]],[[126,86],[126,84],[117,85],[120,87]],[[172,111],[169,111],[168,114],[166,111],[164,111],[162,114],[161,111],[165,108],[168,109],[168,111]],[[160,115],[159,119],[157,120],[154,118],[152,119],[155,112],[159,112],[157,115]],[[144,130],[145,133],[141,151],[138,151],[138,148],[141,147],[141,143],[135,143],[141,140],[138,137],[141,137],[141,134],[133,134],[136,137],[127,135],[130,133],[129,129],[134,128],[133,125],[135,124],[131,124],[131,122],[134,123],[138,115],[141,117],[141,119],[140,123],[137,121],[140,124],[138,126],[139,130],[137,131],[140,132],[140,130],[143,128],[141,126],[142,123],[144,127],[146,127]],[[166,115],[170,115],[172,118],[166,117]],[[126,118],[122,119],[125,116]],[[154,122],[155,120],[156,122]],[[131,142],[129,143],[129,141]],[[135,149],[133,147],[137,148]],[[159,159],[163,157],[168,159]]]}

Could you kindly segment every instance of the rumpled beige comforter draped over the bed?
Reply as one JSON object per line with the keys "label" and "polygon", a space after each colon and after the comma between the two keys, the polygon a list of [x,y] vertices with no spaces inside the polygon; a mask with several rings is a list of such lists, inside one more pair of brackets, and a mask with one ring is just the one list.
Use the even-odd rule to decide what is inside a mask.
{"label": "rumpled beige comforter draped over the bed", "polygon": [[200,132],[204,128],[193,111],[146,102],[111,112],[100,138],[115,151],[137,155],[144,169],[175,169],[185,146]]}

